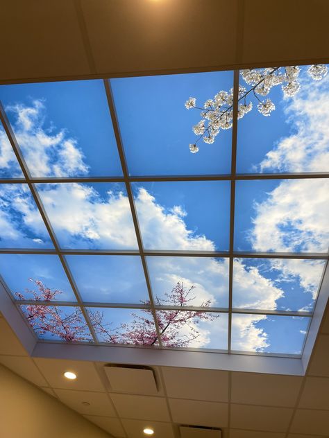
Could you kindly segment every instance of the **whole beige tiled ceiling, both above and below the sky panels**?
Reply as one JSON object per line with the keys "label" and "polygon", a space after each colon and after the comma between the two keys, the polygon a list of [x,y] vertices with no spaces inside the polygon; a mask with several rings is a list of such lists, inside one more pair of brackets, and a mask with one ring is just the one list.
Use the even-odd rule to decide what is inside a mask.
{"label": "whole beige tiled ceiling, both above and below the sky panels", "polygon": [[[0,82],[328,62],[326,0],[11,0],[1,14]],[[113,437],[177,424],[223,438],[329,437],[329,308],[305,377],[155,367],[159,392],[113,392],[103,364],[30,358],[0,318],[0,362]],[[62,380],[66,367],[74,382]],[[88,401],[90,405],[82,405]]]}

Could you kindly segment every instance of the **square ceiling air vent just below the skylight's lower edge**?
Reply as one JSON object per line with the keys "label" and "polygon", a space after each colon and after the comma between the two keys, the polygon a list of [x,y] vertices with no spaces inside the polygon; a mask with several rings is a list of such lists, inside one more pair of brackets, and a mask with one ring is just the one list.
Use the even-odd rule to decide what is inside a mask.
{"label": "square ceiling air vent just below the skylight's lower edge", "polygon": [[114,392],[158,394],[152,369],[105,366],[104,370]]}

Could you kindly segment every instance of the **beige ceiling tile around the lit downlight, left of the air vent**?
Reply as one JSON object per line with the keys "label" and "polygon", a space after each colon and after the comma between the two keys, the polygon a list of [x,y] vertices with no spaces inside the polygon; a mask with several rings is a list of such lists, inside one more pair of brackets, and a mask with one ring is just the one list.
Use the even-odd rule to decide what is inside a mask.
{"label": "beige ceiling tile around the lit downlight, left of the air vent", "polygon": [[[49,385],[54,388],[105,391],[92,362],[44,358],[34,360]],[[77,378],[75,380],[65,378],[63,376],[65,371],[73,371]]]}

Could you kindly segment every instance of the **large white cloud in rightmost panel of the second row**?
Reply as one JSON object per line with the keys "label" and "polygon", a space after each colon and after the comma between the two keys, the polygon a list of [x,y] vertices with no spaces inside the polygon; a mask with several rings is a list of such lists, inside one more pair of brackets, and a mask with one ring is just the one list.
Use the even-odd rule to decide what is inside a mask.
{"label": "large white cloud in rightmost panel of the second row", "polygon": [[326,252],[329,180],[289,179],[255,204],[251,242],[256,251]]}

